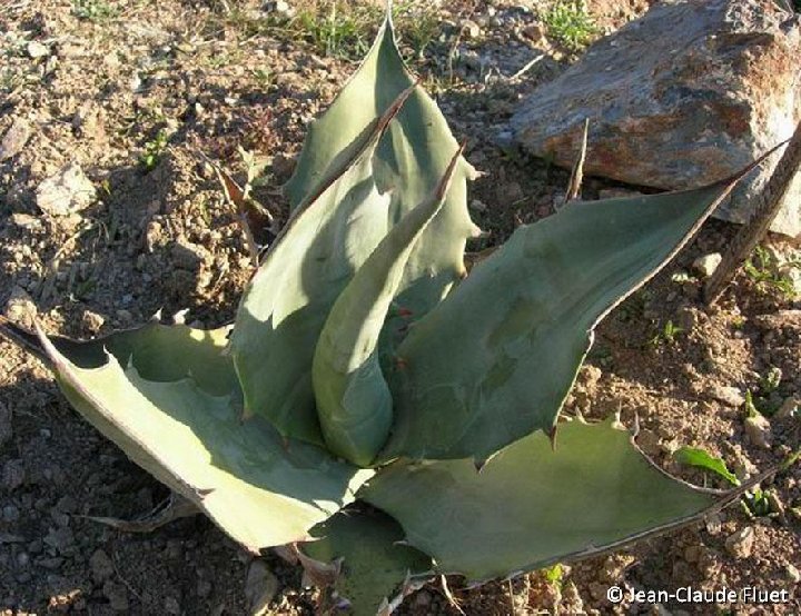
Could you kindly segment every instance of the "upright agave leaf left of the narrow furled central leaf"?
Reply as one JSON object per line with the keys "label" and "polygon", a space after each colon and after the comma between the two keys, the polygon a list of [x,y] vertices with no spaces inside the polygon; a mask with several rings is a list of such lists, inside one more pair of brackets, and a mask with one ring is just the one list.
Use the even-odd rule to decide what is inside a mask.
{"label": "upright agave leaf left of the narrow furled central leaf", "polygon": [[402,91],[382,117],[365,121],[329,161],[243,296],[230,348],[245,416],[266,417],[285,437],[323,443],[314,348],[336,298],[387,232],[389,197],[376,189],[372,153],[411,93]]}

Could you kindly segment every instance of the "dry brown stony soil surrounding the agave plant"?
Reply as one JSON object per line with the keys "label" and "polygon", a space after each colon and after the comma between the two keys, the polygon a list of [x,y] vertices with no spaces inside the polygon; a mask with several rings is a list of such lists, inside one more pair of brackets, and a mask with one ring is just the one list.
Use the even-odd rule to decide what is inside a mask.
{"label": "dry brown stony soil surrounding the agave plant", "polygon": [[[0,307],[9,318],[24,320],[36,306],[48,331],[73,337],[141,324],[158,309],[188,309],[186,321],[204,327],[231,319],[250,264],[200,152],[241,178],[237,146],[254,151],[264,166],[256,196],[284,220],[276,189],[291,172],[305,125],[369,42],[348,22],[333,41],[314,26],[290,27],[276,4],[0,0],[0,136],[14,122],[29,128],[19,151],[0,161]],[[472,215],[492,231],[469,247],[478,250],[552,213],[565,190],[565,171],[508,147],[505,131],[516,101],[575,56],[542,24],[546,2],[436,4],[403,4],[399,33],[457,139],[469,138],[468,159],[486,172],[471,193]],[[590,10],[611,30],[647,4],[604,0]],[[540,53],[543,61],[514,77]],[[46,215],[37,189],[69,162],[98,198],[70,216]],[[591,179],[584,196],[610,188]],[[721,488],[672,453],[703,447],[744,477],[798,449],[801,421],[788,411],[801,398],[801,301],[781,286],[789,275],[754,267],[718,307],[700,300],[692,264],[723,249],[734,231],[705,225],[606,319],[567,409],[592,418],[619,411],[629,426],[639,418],[641,444],[659,464]],[[799,245],[774,237],[767,255],[798,259]],[[770,447],[745,434],[746,391],[771,415]],[[250,557],[206,518],[150,535],[87,519],[134,518],[167,490],[71,410],[39,361],[2,341],[0,469],[0,614],[248,612]],[[477,615],[798,614],[801,465],[762,489],[751,509],[733,506],[696,527],[565,566],[558,579],[537,573],[466,589],[453,578],[449,587]],[[278,580],[268,613],[313,614],[315,592],[301,587],[300,572],[277,557],[267,564]],[[755,586],[789,590],[790,599],[613,606],[612,585]],[[458,613],[437,584],[400,612]]]}

